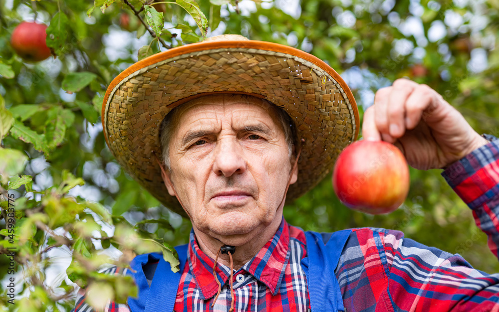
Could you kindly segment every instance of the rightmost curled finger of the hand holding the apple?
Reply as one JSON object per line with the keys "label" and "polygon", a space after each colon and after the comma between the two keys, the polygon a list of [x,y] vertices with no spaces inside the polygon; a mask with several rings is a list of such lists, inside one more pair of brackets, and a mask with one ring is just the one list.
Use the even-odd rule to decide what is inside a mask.
{"label": "rightmost curled finger of the hand holding the apple", "polygon": [[407,99],[406,104],[406,127],[414,129],[426,110],[436,100],[436,92],[427,85],[419,85]]}

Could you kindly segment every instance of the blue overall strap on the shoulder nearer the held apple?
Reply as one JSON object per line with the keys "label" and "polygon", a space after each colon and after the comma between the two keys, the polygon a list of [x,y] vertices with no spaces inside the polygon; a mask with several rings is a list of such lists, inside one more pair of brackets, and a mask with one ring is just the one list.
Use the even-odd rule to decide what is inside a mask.
{"label": "blue overall strap on the shoulder nearer the held apple", "polygon": [[325,245],[321,234],[305,232],[307,257],[301,260],[301,266],[307,278],[312,312],[344,311],[343,296],[334,270],[350,232],[343,230],[332,233]]}

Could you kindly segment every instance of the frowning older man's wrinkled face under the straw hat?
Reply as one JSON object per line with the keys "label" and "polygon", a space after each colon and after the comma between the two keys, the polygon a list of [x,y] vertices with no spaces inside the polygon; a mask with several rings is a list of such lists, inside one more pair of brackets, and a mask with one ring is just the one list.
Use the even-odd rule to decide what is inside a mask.
{"label": "frowning older man's wrinkled face under the straw hat", "polygon": [[[280,222],[279,203],[291,175],[276,116],[260,99],[246,102],[210,95],[184,104],[173,127],[167,173],[195,228],[219,239],[231,235],[241,244]],[[296,179],[297,170],[291,183]]]}

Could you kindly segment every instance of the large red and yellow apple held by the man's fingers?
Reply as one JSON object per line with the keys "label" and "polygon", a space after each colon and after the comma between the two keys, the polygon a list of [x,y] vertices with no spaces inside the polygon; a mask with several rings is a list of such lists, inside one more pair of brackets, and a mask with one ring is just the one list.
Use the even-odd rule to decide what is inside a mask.
{"label": "large red and yellow apple held by the man's fingers", "polygon": [[357,141],[336,160],[333,187],[348,207],[369,214],[396,210],[409,191],[407,161],[393,144]]}

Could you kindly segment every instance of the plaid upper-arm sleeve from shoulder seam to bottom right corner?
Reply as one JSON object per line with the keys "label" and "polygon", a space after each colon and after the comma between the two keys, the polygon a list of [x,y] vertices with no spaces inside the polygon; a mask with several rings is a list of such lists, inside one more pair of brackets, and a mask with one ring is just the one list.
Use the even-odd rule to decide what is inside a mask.
{"label": "plaid upper-arm sleeve from shoulder seam to bottom right corner", "polygon": [[499,311],[499,274],[474,269],[463,257],[404,238],[380,233],[388,287],[378,299],[395,311]]}

